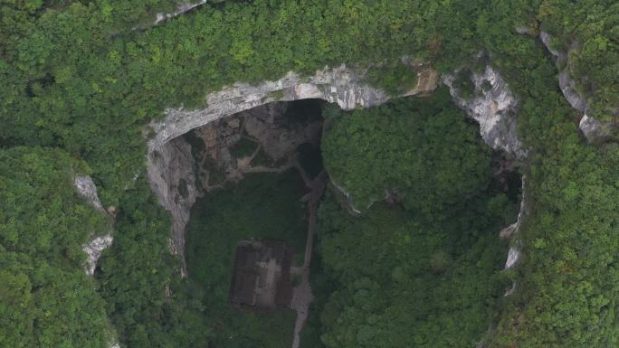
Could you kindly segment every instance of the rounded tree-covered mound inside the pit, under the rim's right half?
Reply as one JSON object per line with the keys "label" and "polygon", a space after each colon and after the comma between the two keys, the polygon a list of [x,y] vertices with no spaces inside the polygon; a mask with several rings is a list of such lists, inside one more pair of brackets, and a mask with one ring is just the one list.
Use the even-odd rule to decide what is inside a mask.
{"label": "rounded tree-covered mound inside the pit, under the rim's right half", "polygon": [[389,189],[408,208],[431,210],[488,181],[490,147],[464,118],[446,88],[431,99],[396,99],[354,111],[326,127],[325,165],[357,209],[382,200]]}

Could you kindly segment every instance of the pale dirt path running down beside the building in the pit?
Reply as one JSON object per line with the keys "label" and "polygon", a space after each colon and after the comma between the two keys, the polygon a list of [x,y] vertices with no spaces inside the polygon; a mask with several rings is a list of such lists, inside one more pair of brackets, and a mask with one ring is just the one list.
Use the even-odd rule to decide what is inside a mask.
{"label": "pale dirt path running down beside the building in the pit", "polygon": [[320,202],[320,197],[322,197],[322,193],[324,193],[325,188],[327,187],[327,181],[329,179],[327,172],[323,170],[316,177],[316,179],[310,181],[300,165],[296,166],[303,177],[303,181],[305,181],[305,184],[311,189],[311,193],[308,200],[309,221],[308,240],[305,246],[305,259],[303,261],[303,266],[300,268],[290,269],[291,273],[302,277],[301,284],[294,288],[292,300],[290,301],[290,308],[297,311],[297,320],[294,324],[294,340],[292,341],[292,348],[299,348],[300,331],[303,329],[303,325],[308,318],[310,304],[314,299],[314,296],[311,294],[310,286],[310,262],[314,246],[314,233],[316,232],[318,205]]}

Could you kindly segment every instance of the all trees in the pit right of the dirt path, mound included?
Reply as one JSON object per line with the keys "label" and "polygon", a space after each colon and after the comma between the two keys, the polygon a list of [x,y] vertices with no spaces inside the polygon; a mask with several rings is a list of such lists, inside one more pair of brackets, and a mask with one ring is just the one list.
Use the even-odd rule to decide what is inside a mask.
{"label": "all trees in the pit right of the dirt path, mound included", "polygon": [[333,195],[320,206],[321,266],[336,289],[319,315],[327,347],[474,346],[490,325],[507,284],[496,233],[515,221],[519,183],[490,184],[490,148],[448,97],[399,99],[326,127],[335,181],[354,197],[396,196],[360,218]]}

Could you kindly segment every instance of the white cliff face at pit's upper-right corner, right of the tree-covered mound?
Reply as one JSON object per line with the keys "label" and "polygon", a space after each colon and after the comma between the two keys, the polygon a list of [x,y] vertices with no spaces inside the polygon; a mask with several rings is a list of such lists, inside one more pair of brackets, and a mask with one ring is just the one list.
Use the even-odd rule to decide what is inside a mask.
{"label": "white cliff face at pit's upper-right corner, right of the tree-covered mound", "polygon": [[[502,150],[522,159],[527,155],[518,139],[516,108],[518,101],[498,71],[486,66],[483,73],[473,72],[471,80],[475,91],[471,99],[463,99],[460,91],[453,87],[455,74],[443,77],[452,94],[453,101],[464,109],[470,118],[480,124],[483,141],[495,150]],[[482,84],[489,82],[491,88],[483,90]]]}

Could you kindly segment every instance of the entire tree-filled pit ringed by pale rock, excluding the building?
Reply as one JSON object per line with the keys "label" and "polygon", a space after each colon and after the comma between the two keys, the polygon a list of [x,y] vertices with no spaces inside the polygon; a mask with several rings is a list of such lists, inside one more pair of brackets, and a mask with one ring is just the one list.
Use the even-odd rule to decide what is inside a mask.
{"label": "entire tree-filled pit ringed by pale rock, excluding the building", "polygon": [[[455,131],[441,131],[454,123]],[[444,314],[457,302],[450,296],[460,296],[469,325],[457,330],[479,337],[487,329],[488,306],[507,287],[499,272],[508,246],[498,231],[518,214],[518,163],[483,144],[444,91],[351,112],[319,99],[272,102],[184,139],[202,195],[186,228],[186,267],[194,298],[208,308],[214,346],[290,347],[300,337],[301,347],[319,347],[321,336],[356,330],[346,320],[367,325],[338,319],[366,310],[357,307],[359,291],[384,306],[384,318],[373,320],[422,331],[449,320]],[[293,250],[290,284],[310,300],[299,308],[292,295],[277,310],[239,311],[230,306],[236,251],[270,240]],[[403,317],[397,306],[418,315]],[[294,309],[305,311],[300,335]]]}

